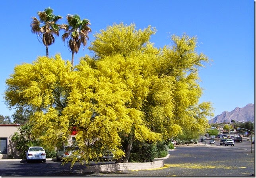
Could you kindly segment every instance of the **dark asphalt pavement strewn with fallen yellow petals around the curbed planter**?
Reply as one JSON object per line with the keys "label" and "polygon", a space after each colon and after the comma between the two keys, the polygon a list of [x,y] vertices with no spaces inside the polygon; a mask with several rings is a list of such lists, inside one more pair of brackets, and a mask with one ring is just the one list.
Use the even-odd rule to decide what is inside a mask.
{"label": "dark asphalt pavement strewn with fallen yellow petals around the curbed planter", "polygon": [[[163,168],[153,170],[123,170],[116,172],[95,172],[73,174],[70,164],[61,165],[56,159],[47,163],[25,161],[0,161],[0,176],[211,176],[248,177],[254,173],[254,145],[251,153],[250,142],[235,143],[235,146],[213,145],[176,146],[169,151]],[[83,168],[76,163],[74,169]]]}

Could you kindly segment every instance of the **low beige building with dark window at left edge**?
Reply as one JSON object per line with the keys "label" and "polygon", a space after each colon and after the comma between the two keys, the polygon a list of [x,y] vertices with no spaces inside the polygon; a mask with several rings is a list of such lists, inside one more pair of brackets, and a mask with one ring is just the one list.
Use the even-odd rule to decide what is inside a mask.
{"label": "low beige building with dark window at left edge", "polygon": [[0,159],[19,158],[17,156],[16,145],[11,141],[12,135],[19,132],[16,124],[0,124]]}

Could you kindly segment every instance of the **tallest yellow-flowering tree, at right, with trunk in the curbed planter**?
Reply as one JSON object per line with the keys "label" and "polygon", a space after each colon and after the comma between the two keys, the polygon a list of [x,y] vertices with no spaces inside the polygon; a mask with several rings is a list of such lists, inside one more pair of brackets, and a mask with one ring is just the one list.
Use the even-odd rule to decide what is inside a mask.
{"label": "tallest yellow-flowering tree, at right, with trunk in the curbed planter", "polygon": [[[173,46],[157,49],[149,42],[154,33],[155,29],[150,26],[136,30],[135,24],[114,24],[95,35],[95,41],[89,46],[95,56],[85,57],[111,82],[114,74],[119,78],[130,93],[126,95],[130,97],[126,109],[140,113],[144,131],[158,135],[155,139],[152,134],[146,138],[148,134],[138,130],[138,121],[133,121],[128,133],[119,133],[125,152],[122,162],[128,161],[135,139],[168,139],[185,129],[204,133],[208,127],[206,117],[212,114],[211,103],[198,103],[202,95],[198,70],[208,58],[196,53],[196,38],[186,34],[173,36]],[[104,64],[104,68],[99,64]]]}

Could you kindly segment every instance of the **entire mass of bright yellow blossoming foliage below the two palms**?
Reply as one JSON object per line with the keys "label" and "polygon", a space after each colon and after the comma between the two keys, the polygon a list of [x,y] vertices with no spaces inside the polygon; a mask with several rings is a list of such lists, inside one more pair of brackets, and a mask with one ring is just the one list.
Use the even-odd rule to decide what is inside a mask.
{"label": "entire mass of bright yellow blossoming foliage below the two palms", "polygon": [[6,80],[6,104],[32,113],[33,135],[50,142],[48,149],[66,144],[76,127],[85,161],[111,149],[118,162],[128,162],[134,141],[205,133],[212,113],[210,103],[198,103],[198,70],[208,58],[185,34],[155,48],[154,33],[150,26],[114,24],[95,34],[89,46],[95,56],[74,68],[60,55],[18,65]]}

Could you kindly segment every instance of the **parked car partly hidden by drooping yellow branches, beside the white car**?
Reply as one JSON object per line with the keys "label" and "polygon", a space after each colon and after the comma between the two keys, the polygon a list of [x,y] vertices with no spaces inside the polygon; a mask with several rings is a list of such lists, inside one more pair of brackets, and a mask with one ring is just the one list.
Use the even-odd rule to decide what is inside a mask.
{"label": "parked car partly hidden by drooping yellow branches, beside the white car", "polygon": [[[70,157],[72,159],[72,153],[74,151],[80,150],[79,147],[74,147],[74,146],[62,146],[60,149],[57,150],[56,152],[56,159],[63,161],[64,158]],[[81,158],[80,155],[76,156],[78,159]]]}

